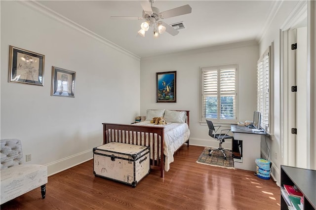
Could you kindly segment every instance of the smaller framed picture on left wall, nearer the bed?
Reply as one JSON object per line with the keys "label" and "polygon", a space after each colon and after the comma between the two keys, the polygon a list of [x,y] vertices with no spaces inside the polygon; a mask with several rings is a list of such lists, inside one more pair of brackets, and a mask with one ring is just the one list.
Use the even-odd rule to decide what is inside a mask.
{"label": "smaller framed picture on left wall, nearer the bed", "polygon": [[75,97],[76,72],[52,67],[51,95]]}

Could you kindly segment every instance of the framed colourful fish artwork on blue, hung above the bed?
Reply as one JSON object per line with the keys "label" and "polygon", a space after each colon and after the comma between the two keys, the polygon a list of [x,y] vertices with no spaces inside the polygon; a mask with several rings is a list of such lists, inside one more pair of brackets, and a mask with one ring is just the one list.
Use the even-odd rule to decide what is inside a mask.
{"label": "framed colourful fish artwork on blue, hung above the bed", "polygon": [[176,102],[177,71],[156,73],[156,102]]}

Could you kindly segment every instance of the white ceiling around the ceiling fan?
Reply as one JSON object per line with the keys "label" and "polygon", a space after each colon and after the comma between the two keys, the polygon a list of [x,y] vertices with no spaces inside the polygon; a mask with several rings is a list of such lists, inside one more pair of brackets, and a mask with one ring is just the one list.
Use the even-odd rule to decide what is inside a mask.
{"label": "white ceiling around the ceiling fan", "polygon": [[185,4],[192,13],[167,18],[173,24],[183,21],[185,29],[172,36],[153,37],[152,28],[145,37],[137,34],[142,20],[110,19],[110,16],[142,17],[135,0],[43,0],[40,4],[80,26],[141,57],[157,56],[214,45],[259,40],[274,15],[276,0],[156,0],[160,12]]}

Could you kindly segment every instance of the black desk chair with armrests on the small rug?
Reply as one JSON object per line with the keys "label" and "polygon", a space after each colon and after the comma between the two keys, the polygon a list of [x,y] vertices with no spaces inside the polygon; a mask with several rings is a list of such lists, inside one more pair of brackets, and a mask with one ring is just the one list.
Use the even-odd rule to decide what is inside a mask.
{"label": "black desk chair with armrests on the small rug", "polygon": [[[219,148],[218,149],[213,149],[213,150],[209,149],[208,150],[209,151],[208,155],[211,156],[213,151],[220,150],[223,153],[223,155],[224,155],[224,159],[226,160],[225,150],[227,150],[227,151],[230,151],[230,150],[223,149],[222,148],[222,143],[225,142],[226,139],[232,139],[232,141],[234,140],[234,137],[231,137],[231,136],[227,135],[228,132],[231,131],[231,129],[222,129],[221,133],[217,134],[217,131],[221,128],[221,125],[214,126],[212,121],[207,120],[207,119],[206,119],[206,123],[207,123],[207,126],[208,126],[208,135],[210,137],[212,137],[213,139],[216,139],[216,140],[219,141]],[[218,128],[215,130],[215,127],[218,127]]]}

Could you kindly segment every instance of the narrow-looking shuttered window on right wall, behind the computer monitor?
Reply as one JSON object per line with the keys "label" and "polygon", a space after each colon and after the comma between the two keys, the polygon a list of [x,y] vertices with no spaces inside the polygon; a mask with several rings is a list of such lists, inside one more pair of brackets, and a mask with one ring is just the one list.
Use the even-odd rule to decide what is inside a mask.
{"label": "narrow-looking shuttered window on right wall, behind the computer monitor", "polygon": [[257,111],[261,112],[261,127],[270,131],[270,54],[271,46],[260,57],[257,63]]}

